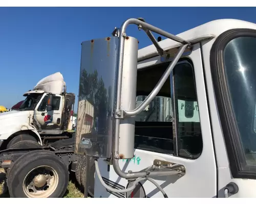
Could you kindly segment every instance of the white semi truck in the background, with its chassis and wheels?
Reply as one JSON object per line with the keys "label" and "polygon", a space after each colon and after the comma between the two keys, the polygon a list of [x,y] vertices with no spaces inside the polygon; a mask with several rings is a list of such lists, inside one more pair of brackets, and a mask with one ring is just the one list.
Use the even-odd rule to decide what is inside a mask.
{"label": "white semi truck in the background, with its chassis and wheels", "polygon": [[[86,157],[74,154],[71,114],[75,95],[66,92],[61,73],[40,80],[24,96],[18,110],[0,116],[0,168],[6,171],[10,196],[62,197],[70,171],[83,187]],[[87,100],[79,104],[93,120],[92,105]],[[90,125],[93,123],[87,124],[88,130]],[[93,174],[93,162],[90,169]],[[94,186],[94,177],[90,183]],[[89,193],[93,196],[93,191]]]}

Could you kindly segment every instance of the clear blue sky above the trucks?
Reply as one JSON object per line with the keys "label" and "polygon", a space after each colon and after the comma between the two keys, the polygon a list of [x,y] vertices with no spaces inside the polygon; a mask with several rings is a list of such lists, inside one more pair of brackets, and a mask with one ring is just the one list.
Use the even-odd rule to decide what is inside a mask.
{"label": "clear blue sky above the trucks", "polygon": [[[80,43],[110,36],[128,18],[143,17],[148,23],[179,34],[220,18],[256,23],[255,13],[256,8],[2,7],[0,105],[11,108],[41,78],[57,71],[63,74],[67,91],[77,95]],[[140,48],[151,44],[135,25],[129,27],[127,34],[138,38]]]}

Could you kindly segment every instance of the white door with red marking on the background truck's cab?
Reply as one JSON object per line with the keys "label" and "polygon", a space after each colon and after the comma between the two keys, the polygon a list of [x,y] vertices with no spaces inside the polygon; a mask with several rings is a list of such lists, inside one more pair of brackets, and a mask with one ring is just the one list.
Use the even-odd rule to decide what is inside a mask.
{"label": "white door with red marking on the background truck's cab", "polygon": [[52,99],[52,111],[46,110],[48,96],[45,95],[35,109],[34,117],[41,126],[41,130],[59,130],[63,107],[63,96],[54,95]]}

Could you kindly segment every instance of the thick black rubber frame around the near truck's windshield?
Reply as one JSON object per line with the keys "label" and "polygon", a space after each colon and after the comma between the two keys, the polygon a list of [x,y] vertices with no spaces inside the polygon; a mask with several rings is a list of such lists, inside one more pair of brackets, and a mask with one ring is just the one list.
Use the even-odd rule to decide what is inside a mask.
{"label": "thick black rubber frame around the near truck's windshield", "polygon": [[256,179],[256,166],[246,163],[223,64],[226,45],[239,37],[256,38],[256,30],[231,29],[219,35],[210,50],[210,71],[232,177]]}

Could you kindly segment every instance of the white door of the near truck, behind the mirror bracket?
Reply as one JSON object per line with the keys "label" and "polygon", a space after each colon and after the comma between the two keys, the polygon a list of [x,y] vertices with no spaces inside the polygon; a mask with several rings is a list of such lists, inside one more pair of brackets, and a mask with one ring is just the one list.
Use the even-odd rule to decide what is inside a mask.
{"label": "white door of the near truck, behind the mirror bracket", "polygon": [[[153,67],[158,68],[160,70],[160,67]],[[143,74],[138,71],[137,87],[140,86],[139,75],[143,80],[148,73],[150,69]],[[199,44],[193,46],[189,59],[183,58],[176,65],[169,84],[169,88],[163,86],[170,90],[168,96],[166,91],[160,91],[147,110],[136,116],[134,158],[120,159],[120,169],[124,172],[141,171],[151,167],[155,160],[181,164],[185,167],[185,175],[153,177],[169,198],[216,197],[217,168]],[[145,88],[142,92],[145,93]],[[150,92],[138,95],[137,91],[137,99],[143,100],[143,96]],[[107,171],[103,159],[98,161],[106,184],[117,189],[128,186],[127,180],[121,179],[113,166]],[[148,181],[139,183],[133,192],[113,193],[106,191],[95,177],[95,197],[163,197]]]}

